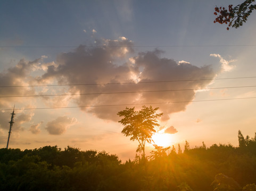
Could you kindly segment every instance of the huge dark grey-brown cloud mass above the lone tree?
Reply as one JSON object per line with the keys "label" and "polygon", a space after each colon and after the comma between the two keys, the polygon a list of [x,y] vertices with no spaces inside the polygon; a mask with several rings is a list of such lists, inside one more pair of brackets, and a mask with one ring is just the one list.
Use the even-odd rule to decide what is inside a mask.
{"label": "huge dark grey-brown cloud mass above the lone tree", "polygon": [[[102,44],[103,47],[86,48],[80,46],[73,52],[60,54],[56,60],[56,65],[48,66],[46,73],[38,80],[57,79],[62,84],[99,84],[70,86],[70,93],[141,92],[205,88],[211,81],[193,80],[213,79],[217,75],[217,72],[214,72],[209,65],[197,67],[188,62],[177,63],[173,59],[161,58],[162,51],[158,49],[139,53],[137,56],[129,58],[130,54],[134,52],[131,48],[133,43],[125,37],[119,40],[103,40]],[[123,61],[125,59],[126,62]],[[106,85],[107,83],[171,80],[192,81]],[[128,104],[186,101],[153,105],[160,107],[164,113],[162,120],[167,120],[169,114],[184,111],[188,105],[187,101],[192,101],[195,93],[195,90],[189,90],[80,95],[76,99],[76,103],[78,106],[124,104],[133,107]],[[83,110],[98,118],[117,121],[119,119],[117,112],[124,108],[125,106],[90,107],[83,108]]]}

